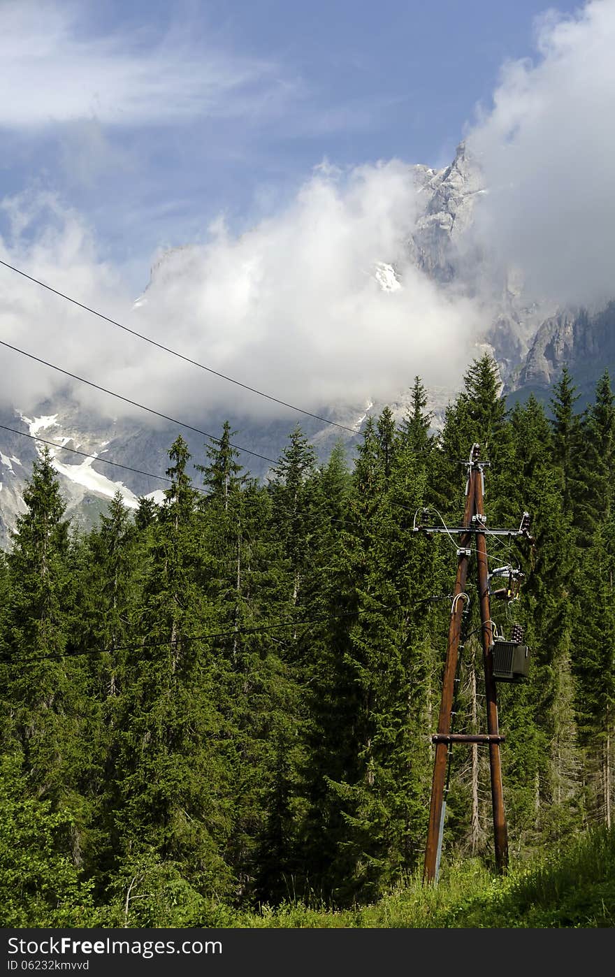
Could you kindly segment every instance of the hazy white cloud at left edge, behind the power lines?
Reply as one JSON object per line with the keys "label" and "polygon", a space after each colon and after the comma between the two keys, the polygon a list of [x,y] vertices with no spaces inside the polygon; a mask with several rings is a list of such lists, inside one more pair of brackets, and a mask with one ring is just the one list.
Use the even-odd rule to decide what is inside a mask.
{"label": "hazy white cloud at left edge, behind the power lines", "polygon": [[[100,257],[90,229],[50,192],[23,192],[0,203],[10,233],[0,258],[111,318],[130,302],[122,278]],[[70,372],[97,379],[120,356],[116,337],[92,317],[22,276],[0,267],[0,338]],[[27,412],[69,383],[60,373],[0,348],[2,403]],[[101,382],[98,380],[98,382]],[[82,393],[84,402],[87,398]],[[97,401],[102,404],[102,400]],[[113,407],[111,406],[111,412]]]}

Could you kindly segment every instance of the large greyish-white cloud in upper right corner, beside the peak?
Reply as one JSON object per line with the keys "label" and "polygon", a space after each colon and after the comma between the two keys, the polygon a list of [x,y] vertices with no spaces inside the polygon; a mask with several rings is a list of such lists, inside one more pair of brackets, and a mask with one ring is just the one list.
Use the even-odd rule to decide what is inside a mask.
{"label": "large greyish-white cloud in upper right corner, beside the peak", "polygon": [[615,292],[614,0],[549,12],[536,42],[468,133],[489,187],[476,233],[535,295],[598,304]]}

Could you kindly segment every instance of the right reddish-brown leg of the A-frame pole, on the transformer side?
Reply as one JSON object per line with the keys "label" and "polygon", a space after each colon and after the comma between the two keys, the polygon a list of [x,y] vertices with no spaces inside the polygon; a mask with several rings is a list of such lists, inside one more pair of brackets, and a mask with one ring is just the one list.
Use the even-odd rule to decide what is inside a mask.
{"label": "right reddish-brown leg of the A-frame pole, on the transformer side", "polygon": [[[483,664],[485,668],[487,732],[491,736],[498,736],[500,731],[498,729],[498,700],[496,697],[496,682],[493,676],[493,656],[491,652],[493,629],[489,600],[487,541],[485,539],[485,533],[480,531],[480,521],[484,525],[485,517],[483,494],[483,473],[480,471],[477,473],[474,482],[474,511],[477,517],[476,563],[478,568],[478,596],[482,625]],[[508,837],[504,810],[504,792],[502,788],[502,761],[500,757],[500,742],[498,740],[491,740],[489,742],[489,769],[491,773],[491,800],[493,806],[496,865],[499,871],[505,872],[508,868]]]}

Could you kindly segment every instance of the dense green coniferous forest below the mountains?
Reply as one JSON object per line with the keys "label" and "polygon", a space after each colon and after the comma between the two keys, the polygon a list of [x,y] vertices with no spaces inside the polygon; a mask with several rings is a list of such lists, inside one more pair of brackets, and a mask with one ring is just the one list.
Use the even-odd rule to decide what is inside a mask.
{"label": "dense green coniferous forest below the mountains", "polygon": [[[224,913],[373,904],[420,870],[431,734],[473,442],[490,527],[530,513],[534,545],[487,536],[525,573],[492,604],[530,675],[498,685],[511,863],[590,828],[614,795],[615,404],[507,409],[474,363],[435,434],[417,378],[352,464],[300,428],[262,482],[235,432],[169,447],[166,503],[119,493],[76,531],[43,451],[0,563],[0,905],[9,926],[207,926]],[[473,571],[456,730],[485,730]],[[490,869],[488,755],[453,751],[443,865]],[[224,921],[221,923],[224,925]]]}

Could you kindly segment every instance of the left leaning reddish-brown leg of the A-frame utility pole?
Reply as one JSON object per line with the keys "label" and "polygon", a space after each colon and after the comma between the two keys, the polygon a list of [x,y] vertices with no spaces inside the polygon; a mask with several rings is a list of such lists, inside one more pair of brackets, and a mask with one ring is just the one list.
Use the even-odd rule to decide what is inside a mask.
{"label": "left leaning reddish-brown leg of the A-frame utility pole", "polygon": [[[465,508],[463,511],[463,527],[470,526],[470,521],[475,506],[475,488],[477,472],[473,468],[475,459],[478,457],[478,445],[472,445],[470,452],[469,467],[467,471],[467,487],[465,494]],[[464,610],[463,598],[458,599],[459,595],[465,591],[465,581],[469,564],[471,535],[469,532],[462,533],[460,536],[459,562],[457,566],[457,576],[455,579],[455,589],[453,591],[453,608],[451,612],[451,622],[449,624],[449,638],[447,644],[446,662],[444,665],[444,678],[442,680],[442,700],[440,703],[440,714],[438,717],[438,733],[450,734],[451,732],[451,712],[455,696],[455,676],[457,673],[457,661],[459,657],[459,644],[461,635],[461,616]],[[449,743],[440,741],[436,743],[436,755],[433,763],[433,781],[431,785],[431,804],[429,807],[429,826],[427,828],[427,845],[425,849],[425,862],[423,867],[423,882],[436,881],[438,868],[438,842],[443,828],[444,814],[444,785],[446,782],[446,765],[449,751]]]}

